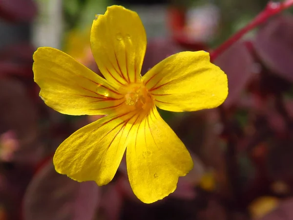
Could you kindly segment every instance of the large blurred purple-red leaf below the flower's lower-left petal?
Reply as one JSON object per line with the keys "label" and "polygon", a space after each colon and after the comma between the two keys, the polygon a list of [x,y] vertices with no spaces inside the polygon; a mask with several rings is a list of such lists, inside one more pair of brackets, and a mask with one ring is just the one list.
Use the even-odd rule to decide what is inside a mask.
{"label": "large blurred purple-red leaf below the flower's lower-left petal", "polygon": [[23,200],[24,220],[92,220],[100,202],[93,181],[77,182],[48,161],[32,179]]}

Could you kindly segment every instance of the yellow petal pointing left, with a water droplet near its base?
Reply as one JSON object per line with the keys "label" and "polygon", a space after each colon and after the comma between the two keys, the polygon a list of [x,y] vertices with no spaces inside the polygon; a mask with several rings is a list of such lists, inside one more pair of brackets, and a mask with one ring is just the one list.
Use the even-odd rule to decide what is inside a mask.
{"label": "yellow petal pointing left, with a water droplet near its base", "polygon": [[40,47],[33,58],[40,96],[54,110],[71,115],[108,114],[123,101],[105,79],[60,50]]}

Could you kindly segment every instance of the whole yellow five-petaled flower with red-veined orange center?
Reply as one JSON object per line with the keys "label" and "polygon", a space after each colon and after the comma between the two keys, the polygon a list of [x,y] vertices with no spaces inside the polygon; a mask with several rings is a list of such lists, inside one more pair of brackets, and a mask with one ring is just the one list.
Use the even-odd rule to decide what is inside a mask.
{"label": "whole yellow five-petaled flower with red-veined orange center", "polygon": [[209,53],[188,51],[168,57],[141,77],[146,32],[139,16],[122,6],[97,16],[90,41],[105,79],[60,50],[41,47],[34,54],[35,82],[49,107],[71,115],[107,115],[59,146],[55,169],[80,182],[105,185],[126,151],[134,194],[145,203],[162,199],[193,164],[156,106],[170,111],[217,107],[228,94],[227,76],[209,62]]}

